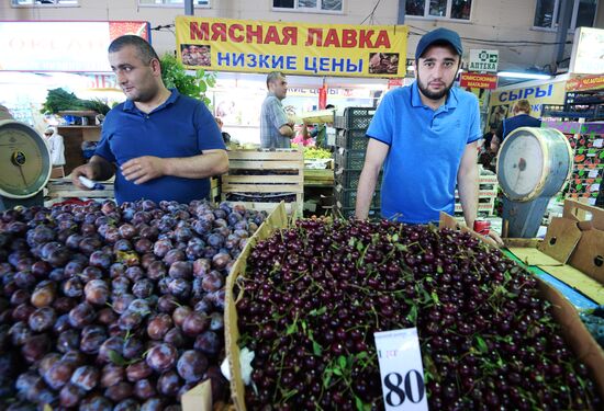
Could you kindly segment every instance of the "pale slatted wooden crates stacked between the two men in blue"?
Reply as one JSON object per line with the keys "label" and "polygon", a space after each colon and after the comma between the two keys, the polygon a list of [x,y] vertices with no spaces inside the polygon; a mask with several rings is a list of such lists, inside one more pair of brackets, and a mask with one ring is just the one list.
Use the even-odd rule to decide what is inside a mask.
{"label": "pale slatted wooden crates stacked between the two men in blue", "polygon": [[[248,173],[248,174],[246,174]],[[222,175],[222,201],[243,204],[248,208],[270,212],[279,202],[232,199],[241,197],[283,196],[295,198],[286,204],[288,213],[302,215],[304,204],[304,157],[302,150],[232,150],[228,151],[228,173]]]}

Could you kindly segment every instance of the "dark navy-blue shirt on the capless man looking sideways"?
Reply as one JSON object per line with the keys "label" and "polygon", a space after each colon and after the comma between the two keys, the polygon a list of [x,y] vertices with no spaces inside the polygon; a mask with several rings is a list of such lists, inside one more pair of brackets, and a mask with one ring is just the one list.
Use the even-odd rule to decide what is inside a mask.
{"label": "dark navy-blue shirt on the capless man looking sideways", "polygon": [[168,100],[148,114],[131,100],[111,110],[94,153],[118,165],[115,201],[119,204],[142,198],[189,203],[208,197],[209,179],[166,175],[134,184],[124,178],[120,165],[142,156],[192,157],[212,149],[225,149],[214,117],[201,101],[172,90]]}

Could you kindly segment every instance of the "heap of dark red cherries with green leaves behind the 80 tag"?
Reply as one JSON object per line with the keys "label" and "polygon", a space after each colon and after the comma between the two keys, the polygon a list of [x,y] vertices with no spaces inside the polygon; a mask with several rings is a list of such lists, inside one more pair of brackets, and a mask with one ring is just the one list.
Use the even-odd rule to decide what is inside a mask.
{"label": "heap of dark red cherries with green leaves behind the 80 tag", "polygon": [[250,410],[382,409],[373,333],[410,327],[432,410],[602,409],[536,279],[469,233],[301,220],[256,244],[236,287]]}

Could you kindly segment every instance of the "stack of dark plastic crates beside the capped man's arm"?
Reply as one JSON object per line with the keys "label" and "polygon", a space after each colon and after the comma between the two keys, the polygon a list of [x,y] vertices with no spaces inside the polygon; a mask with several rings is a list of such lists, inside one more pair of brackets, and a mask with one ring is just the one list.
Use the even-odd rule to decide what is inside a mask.
{"label": "stack of dark plastic crates beside the capped man's arm", "polygon": [[[337,134],[334,152],[334,213],[345,218],[353,217],[355,213],[357,189],[368,144],[366,132],[374,112],[372,107],[347,107],[343,116],[335,117]],[[381,175],[379,180],[369,210],[370,217],[379,216]]]}

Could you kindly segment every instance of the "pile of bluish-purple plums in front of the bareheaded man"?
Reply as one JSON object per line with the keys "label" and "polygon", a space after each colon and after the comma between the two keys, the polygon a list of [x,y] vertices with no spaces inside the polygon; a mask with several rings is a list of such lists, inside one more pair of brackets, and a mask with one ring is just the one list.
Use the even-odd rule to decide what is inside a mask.
{"label": "pile of bluish-purple plums in front of the bareheaded man", "polygon": [[174,410],[205,379],[225,400],[225,277],[264,218],[150,201],[0,214],[0,410]]}

